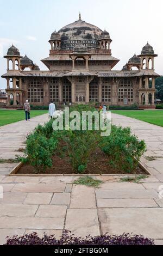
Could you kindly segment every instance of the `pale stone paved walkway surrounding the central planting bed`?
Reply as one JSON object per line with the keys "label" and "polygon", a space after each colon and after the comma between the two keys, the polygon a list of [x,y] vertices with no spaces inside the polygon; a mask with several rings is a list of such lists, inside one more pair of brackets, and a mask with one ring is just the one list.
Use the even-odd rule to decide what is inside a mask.
{"label": "pale stone paved walkway surrounding the central planting bed", "polygon": [[[17,140],[13,146],[6,138],[2,139],[1,153],[7,156],[7,147],[12,145],[9,158],[12,154],[14,157],[14,149],[23,146],[26,133],[46,118],[46,115],[35,118],[28,128],[23,121],[21,128],[20,122],[3,126],[1,139],[2,130],[7,136],[5,131],[9,129],[10,141],[14,141],[14,136]],[[152,175],[142,184],[120,183],[117,176],[97,176],[104,183],[96,189],[72,185],[76,176],[1,175],[4,198],[0,199],[0,243],[5,242],[7,235],[23,235],[31,231],[37,231],[39,235],[47,231],[59,237],[65,228],[82,236],[132,232],[163,244],[163,199],[159,199],[158,194],[159,186],[163,185],[163,128],[116,114],[112,114],[112,120],[122,126],[131,126],[140,139],[145,139],[146,155],[159,157],[151,162],[142,157],[141,161]],[[5,164],[3,168],[9,170],[12,167]]]}

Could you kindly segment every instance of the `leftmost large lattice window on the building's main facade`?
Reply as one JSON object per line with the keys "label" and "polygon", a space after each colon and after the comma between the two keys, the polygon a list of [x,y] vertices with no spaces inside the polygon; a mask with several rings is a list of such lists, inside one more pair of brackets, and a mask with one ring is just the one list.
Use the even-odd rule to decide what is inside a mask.
{"label": "leftmost large lattice window on the building's main facade", "polygon": [[28,88],[28,100],[30,102],[43,102],[43,87],[42,83],[37,80],[33,79],[29,83]]}

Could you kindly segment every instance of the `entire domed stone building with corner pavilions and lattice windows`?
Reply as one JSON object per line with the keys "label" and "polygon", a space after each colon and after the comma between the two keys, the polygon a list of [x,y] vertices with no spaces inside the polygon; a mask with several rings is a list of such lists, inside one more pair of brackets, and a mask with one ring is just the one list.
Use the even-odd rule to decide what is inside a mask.
{"label": "entire domed stone building with corner pavilions and lattice windows", "polygon": [[154,71],[157,55],[153,47],[147,43],[121,71],[112,71],[119,59],[111,55],[111,42],[108,32],[79,15],[79,20],[52,33],[49,57],[41,60],[48,71],[41,71],[12,45],[4,56],[7,74],[2,76],[7,80],[8,107],[11,99],[15,108],[28,99],[32,105],[48,105],[53,100],[58,105],[137,103],[140,108],[155,108],[155,78],[159,75]]}

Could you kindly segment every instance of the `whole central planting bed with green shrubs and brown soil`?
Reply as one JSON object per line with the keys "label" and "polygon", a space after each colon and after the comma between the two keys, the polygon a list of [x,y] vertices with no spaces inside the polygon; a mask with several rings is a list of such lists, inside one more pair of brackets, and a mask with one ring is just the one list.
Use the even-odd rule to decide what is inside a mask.
{"label": "whole central planting bed with green shrubs and brown soil", "polygon": [[[83,111],[99,112],[90,106],[70,108],[79,114]],[[64,114],[63,114],[64,119]],[[82,121],[76,121],[79,130],[53,129],[53,120],[37,126],[26,141],[22,163],[9,175],[140,175],[149,174],[140,163],[146,144],[131,133],[129,127],[111,125],[109,136],[102,137],[95,129],[82,130]],[[87,124],[87,120],[86,120]],[[94,127],[94,128],[93,128]]]}

